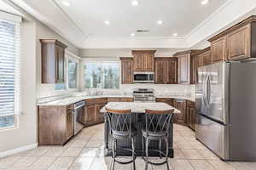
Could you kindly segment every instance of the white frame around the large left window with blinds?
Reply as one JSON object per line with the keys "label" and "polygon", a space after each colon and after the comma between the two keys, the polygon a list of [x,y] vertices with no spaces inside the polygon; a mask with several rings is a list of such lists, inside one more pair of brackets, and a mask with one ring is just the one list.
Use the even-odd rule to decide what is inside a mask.
{"label": "white frame around the large left window with blinds", "polygon": [[[6,13],[6,12],[3,12],[3,11],[0,11],[0,19],[2,20],[7,20],[7,21],[10,21],[10,22],[13,22],[17,25],[21,25],[21,21],[22,21],[22,18],[19,16],[19,15],[16,15],[16,14],[9,14],[9,13]],[[21,32],[21,27],[19,27],[19,30],[18,32]],[[21,35],[20,35],[21,36]],[[20,38],[19,36],[19,38]],[[21,43],[21,39],[20,39],[20,43]],[[19,43],[19,45],[20,45]],[[19,59],[16,60],[15,62],[18,62],[18,65],[16,63],[16,68],[18,71],[20,71],[20,59],[21,59],[21,54],[20,54],[20,47],[18,48],[18,54],[20,55]],[[15,73],[17,74],[17,73]],[[20,72],[18,73],[19,74],[19,77],[17,79],[19,79],[18,82],[15,82],[15,86],[19,86],[20,87]],[[0,127],[0,131],[3,132],[3,131],[8,131],[8,130],[14,130],[14,129],[17,129],[19,128],[19,118],[20,118],[20,111],[21,111],[21,103],[20,103],[20,88],[15,88],[15,112],[17,113],[14,113],[14,116],[15,116],[15,120],[14,120],[14,125],[13,126],[10,126],[10,127]],[[18,92],[17,92],[18,91]]]}

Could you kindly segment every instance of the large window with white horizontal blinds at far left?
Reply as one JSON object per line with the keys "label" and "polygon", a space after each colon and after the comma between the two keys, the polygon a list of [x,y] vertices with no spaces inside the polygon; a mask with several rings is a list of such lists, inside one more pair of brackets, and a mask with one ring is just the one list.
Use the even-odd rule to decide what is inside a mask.
{"label": "large window with white horizontal blinds at far left", "polygon": [[0,129],[16,127],[20,114],[20,21],[0,12]]}

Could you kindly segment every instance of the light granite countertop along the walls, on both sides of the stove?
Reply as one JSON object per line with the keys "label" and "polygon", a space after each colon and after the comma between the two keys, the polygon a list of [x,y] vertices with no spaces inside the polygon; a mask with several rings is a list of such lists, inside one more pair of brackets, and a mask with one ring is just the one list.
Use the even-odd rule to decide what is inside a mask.
{"label": "light granite countertop along the walls, on both sides of the stove", "polygon": [[[84,99],[96,99],[96,98],[133,98],[132,95],[91,95],[91,96],[79,96],[79,97],[66,97],[62,99],[55,99],[47,102],[39,102],[38,105],[71,105],[82,101]],[[156,96],[156,98],[174,98],[174,99],[189,99],[195,101],[192,96]]]}

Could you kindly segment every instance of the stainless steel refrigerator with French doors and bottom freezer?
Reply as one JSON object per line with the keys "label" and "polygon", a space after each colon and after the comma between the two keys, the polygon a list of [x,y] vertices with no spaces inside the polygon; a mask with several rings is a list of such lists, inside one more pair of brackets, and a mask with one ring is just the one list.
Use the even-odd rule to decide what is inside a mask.
{"label": "stainless steel refrigerator with French doors and bottom freezer", "polygon": [[195,137],[223,160],[256,161],[256,63],[198,69]]}

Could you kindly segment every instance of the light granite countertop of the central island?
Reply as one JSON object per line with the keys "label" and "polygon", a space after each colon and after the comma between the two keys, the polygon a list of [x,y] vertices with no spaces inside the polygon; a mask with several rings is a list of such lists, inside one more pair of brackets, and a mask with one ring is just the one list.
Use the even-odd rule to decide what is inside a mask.
{"label": "light granite countertop of the central island", "polygon": [[109,102],[101,112],[106,113],[105,107],[114,110],[129,110],[133,113],[145,113],[145,109],[154,111],[166,111],[174,109],[174,113],[180,113],[176,108],[162,102]]}

